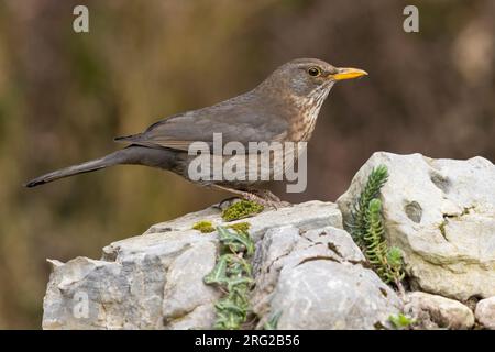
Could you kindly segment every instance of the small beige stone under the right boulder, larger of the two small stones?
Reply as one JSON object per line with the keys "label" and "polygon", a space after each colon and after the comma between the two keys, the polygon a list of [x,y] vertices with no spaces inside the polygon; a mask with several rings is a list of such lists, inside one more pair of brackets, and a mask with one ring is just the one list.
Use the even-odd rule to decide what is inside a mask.
{"label": "small beige stone under the right boulder, larger of the two small stones", "polygon": [[421,292],[407,294],[405,311],[425,329],[470,329],[474,324],[473,312],[460,301]]}

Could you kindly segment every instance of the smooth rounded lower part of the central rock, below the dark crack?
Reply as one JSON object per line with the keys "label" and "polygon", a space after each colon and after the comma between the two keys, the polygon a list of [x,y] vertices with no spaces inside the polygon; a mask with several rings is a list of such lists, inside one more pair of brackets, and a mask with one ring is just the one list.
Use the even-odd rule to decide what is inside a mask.
{"label": "smooth rounded lower part of the central rock, below the dark crack", "polygon": [[377,329],[399,300],[374,272],[350,263],[311,260],[283,270],[272,299],[278,329]]}

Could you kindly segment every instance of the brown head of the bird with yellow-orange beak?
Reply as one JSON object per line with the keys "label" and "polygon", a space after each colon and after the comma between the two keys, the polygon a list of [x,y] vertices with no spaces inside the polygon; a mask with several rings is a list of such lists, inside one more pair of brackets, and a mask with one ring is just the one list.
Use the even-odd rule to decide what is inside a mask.
{"label": "brown head of the bird with yellow-orange beak", "polygon": [[339,80],[367,75],[365,70],[351,67],[334,67],[317,58],[297,58],[278,67],[263,85],[282,90],[294,97],[327,97]]}

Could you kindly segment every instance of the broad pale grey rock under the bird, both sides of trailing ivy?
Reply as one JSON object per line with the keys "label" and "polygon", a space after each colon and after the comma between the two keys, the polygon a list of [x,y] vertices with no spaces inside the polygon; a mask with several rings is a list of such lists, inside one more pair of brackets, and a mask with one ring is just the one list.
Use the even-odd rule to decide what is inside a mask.
{"label": "broad pale grey rock under the bird, both sides of trailing ivy", "polygon": [[[215,265],[221,224],[215,208],[114,242],[95,261],[51,261],[44,329],[207,329],[220,290],[204,284]],[[282,312],[282,329],[373,329],[400,302],[342,230],[337,206],[310,201],[245,219],[256,239],[252,304],[260,327]],[[244,220],[244,221],[245,221]]]}

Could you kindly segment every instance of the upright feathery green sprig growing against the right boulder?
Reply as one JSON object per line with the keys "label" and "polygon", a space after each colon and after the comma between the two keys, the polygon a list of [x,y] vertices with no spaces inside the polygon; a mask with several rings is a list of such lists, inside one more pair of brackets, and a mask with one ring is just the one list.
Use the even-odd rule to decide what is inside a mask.
{"label": "upright feathery green sprig growing against the right boulder", "polygon": [[385,283],[394,283],[402,290],[403,255],[398,248],[388,248],[383,226],[382,201],[378,194],[388,178],[387,167],[374,168],[351,211],[350,232],[363,250],[370,264]]}

